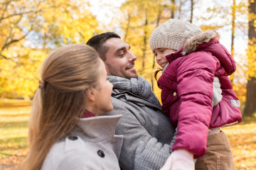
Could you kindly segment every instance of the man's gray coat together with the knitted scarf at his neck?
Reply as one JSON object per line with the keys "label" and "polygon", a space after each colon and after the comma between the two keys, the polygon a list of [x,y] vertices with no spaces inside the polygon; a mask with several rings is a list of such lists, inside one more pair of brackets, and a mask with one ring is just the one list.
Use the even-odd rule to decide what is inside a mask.
{"label": "man's gray coat together with the knitted scarf at his neck", "polygon": [[105,115],[122,115],[116,128],[124,135],[119,159],[122,169],[160,169],[171,154],[174,128],[151,91],[146,79],[108,77],[114,85],[113,111]]}

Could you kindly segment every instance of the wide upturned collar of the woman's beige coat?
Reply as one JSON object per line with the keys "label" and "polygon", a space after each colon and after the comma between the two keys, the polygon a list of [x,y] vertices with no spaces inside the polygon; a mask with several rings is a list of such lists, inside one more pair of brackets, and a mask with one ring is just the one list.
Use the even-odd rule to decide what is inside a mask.
{"label": "wide upturned collar of the woman's beige coat", "polygon": [[80,118],[78,126],[69,135],[78,135],[89,142],[111,140],[114,130],[122,115],[100,115],[91,118]]}

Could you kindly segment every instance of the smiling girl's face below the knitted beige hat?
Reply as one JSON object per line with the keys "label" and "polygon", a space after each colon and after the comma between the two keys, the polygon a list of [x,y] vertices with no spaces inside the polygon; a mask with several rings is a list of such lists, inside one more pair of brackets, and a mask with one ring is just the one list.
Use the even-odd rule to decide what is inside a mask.
{"label": "smiling girl's face below the knitted beige hat", "polygon": [[169,48],[156,48],[154,50],[154,56],[156,57],[156,62],[164,69],[165,65],[168,63],[166,60],[166,55],[171,55],[171,53],[176,52],[175,50]]}

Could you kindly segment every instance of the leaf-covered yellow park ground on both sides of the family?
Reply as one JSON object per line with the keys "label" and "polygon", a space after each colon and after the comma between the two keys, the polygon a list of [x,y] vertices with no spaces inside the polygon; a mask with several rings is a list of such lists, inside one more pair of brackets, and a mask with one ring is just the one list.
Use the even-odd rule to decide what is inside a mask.
{"label": "leaf-covered yellow park ground on both sides of the family", "polygon": [[[0,169],[16,169],[28,152],[31,101],[0,98]],[[222,128],[234,156],[234,170],[256,170],[256,118]]]}

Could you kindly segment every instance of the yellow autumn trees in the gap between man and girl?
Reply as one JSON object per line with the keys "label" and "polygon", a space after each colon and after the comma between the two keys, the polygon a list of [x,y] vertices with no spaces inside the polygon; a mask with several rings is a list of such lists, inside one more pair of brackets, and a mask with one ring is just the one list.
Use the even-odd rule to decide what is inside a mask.
{"label": "yellow autumn trees in the gap between man and girl", "polygon": [[124,33],[124,41],[132,47],[131,51],[137,56],[135,64],[137,73],[151,82],[158,97],[160,90],[154,79],[157,64],[149,47],[149,37],[159,24],[169,18],[181,16],[186,18],[182,13],[183,6],[189,2],[188,0],[127,0],[121,6],[124,17],[120,21],[120,26]]}

